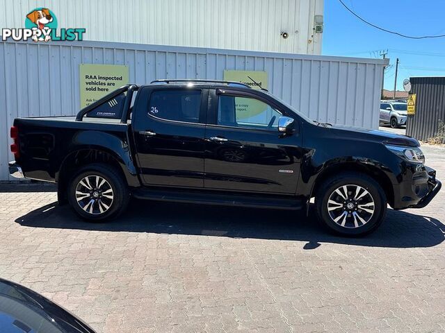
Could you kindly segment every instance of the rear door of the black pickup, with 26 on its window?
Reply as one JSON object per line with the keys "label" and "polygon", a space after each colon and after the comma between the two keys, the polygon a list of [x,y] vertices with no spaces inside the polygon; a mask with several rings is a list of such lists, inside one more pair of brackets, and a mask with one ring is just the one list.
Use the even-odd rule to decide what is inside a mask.
{"label": "rear door of the black pickup, with 26 on its window", "polygon": [[133,121],[144,185],[204,186],[207,89],[146,87]]}

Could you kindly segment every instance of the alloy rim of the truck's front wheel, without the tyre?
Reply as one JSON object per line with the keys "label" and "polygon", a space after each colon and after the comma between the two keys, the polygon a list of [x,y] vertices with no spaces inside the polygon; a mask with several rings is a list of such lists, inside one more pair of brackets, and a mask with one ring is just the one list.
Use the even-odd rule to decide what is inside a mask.
{"label": "alloy rim of the truck's front wheel, without the tyre", "polygon": [[343,228],[359,228],[371,220],[375,203],[371,193],[359,185],[342,185],[327,200],[332,221]]}

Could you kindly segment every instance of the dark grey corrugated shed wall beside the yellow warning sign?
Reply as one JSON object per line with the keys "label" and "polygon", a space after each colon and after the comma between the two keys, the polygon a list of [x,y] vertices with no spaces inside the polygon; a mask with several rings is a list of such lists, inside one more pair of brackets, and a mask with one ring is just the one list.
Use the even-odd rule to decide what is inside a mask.
{"label": "dark grey corrugated shed wall beside the yellow warning sign", "polygon": [[416,114],[408,116],[406,133],[428,140],[437,133],[439,120],[445,121],[445,77],[410,78],[416,94]]}

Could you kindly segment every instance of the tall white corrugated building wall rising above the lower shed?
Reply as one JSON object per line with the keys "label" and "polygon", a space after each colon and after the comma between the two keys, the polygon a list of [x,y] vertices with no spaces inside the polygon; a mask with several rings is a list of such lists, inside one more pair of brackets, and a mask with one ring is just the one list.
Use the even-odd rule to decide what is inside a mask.
{"label": "tall white corrugated building wall rising above the lower shed", "polygon": [[[0,28],[24,28],[49,8],[59,28],[86,28],[86,40],[321,54],[314,15],[323,0],[0,0]],[[286,31],[284,40],[280,33]]]}

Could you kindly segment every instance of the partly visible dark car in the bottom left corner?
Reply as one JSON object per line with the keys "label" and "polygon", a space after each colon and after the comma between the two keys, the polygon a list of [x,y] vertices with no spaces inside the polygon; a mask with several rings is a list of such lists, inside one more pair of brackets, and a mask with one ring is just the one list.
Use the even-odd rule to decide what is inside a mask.
{"label": "partly visible dark car in the bottom left corner", "polygon": [[0,278],[1,333],[95,333],[51,300]]}

